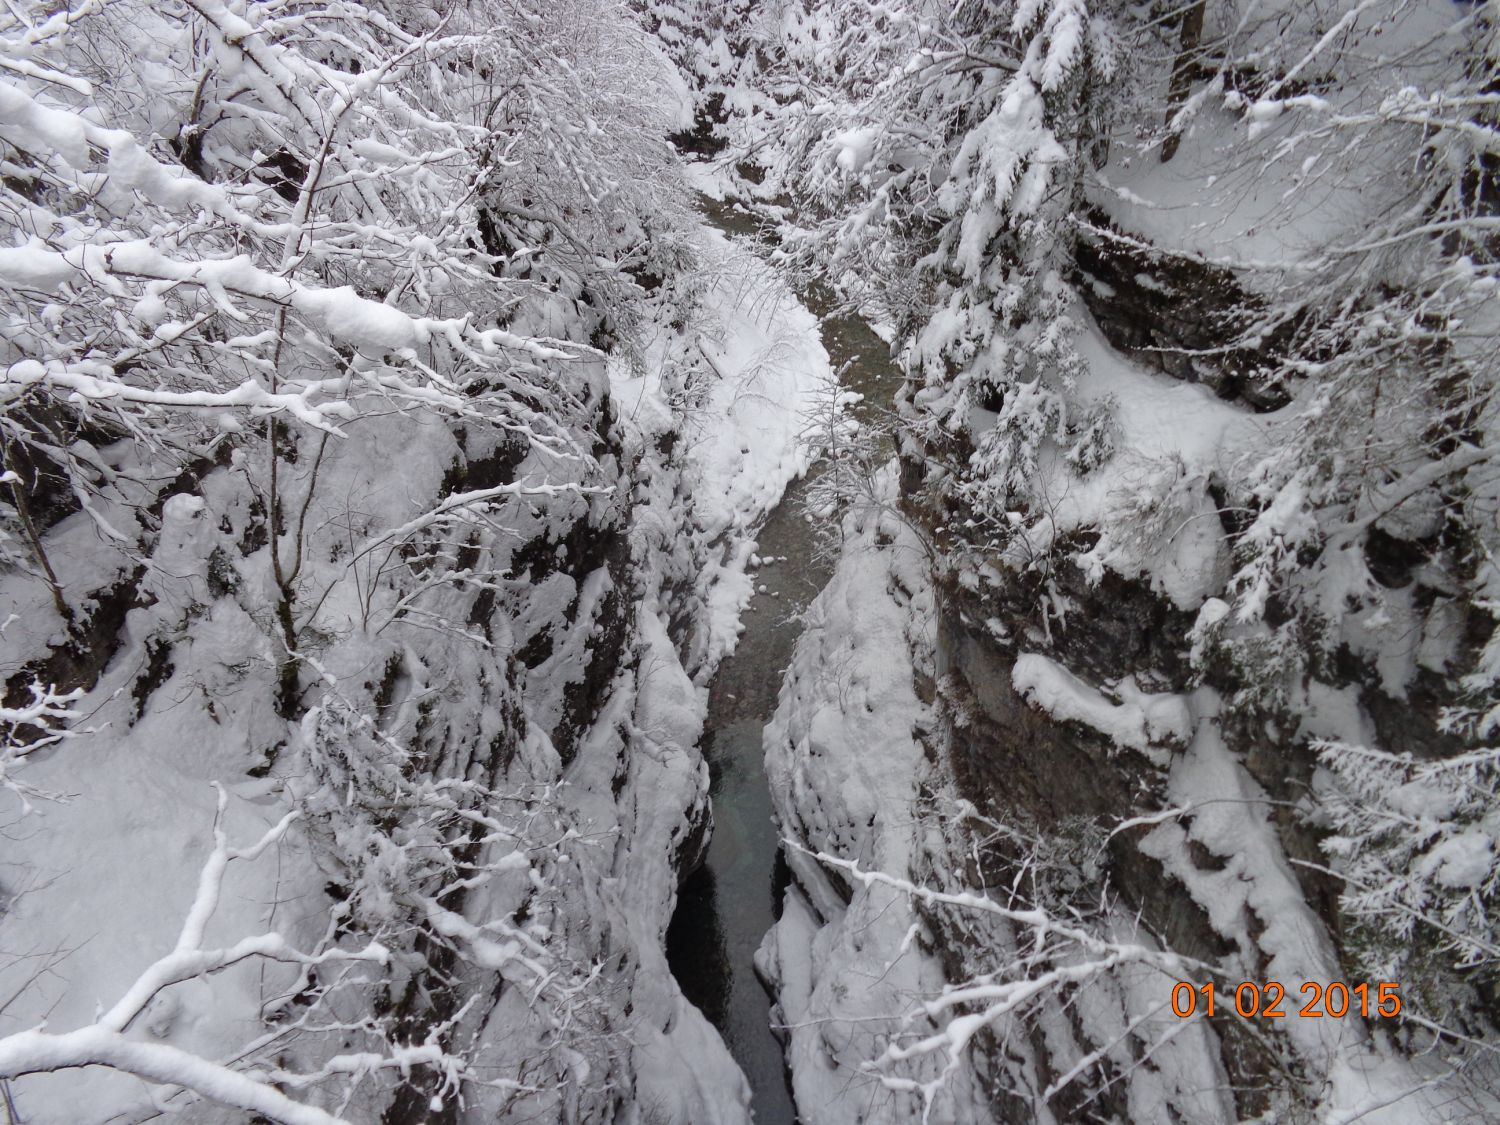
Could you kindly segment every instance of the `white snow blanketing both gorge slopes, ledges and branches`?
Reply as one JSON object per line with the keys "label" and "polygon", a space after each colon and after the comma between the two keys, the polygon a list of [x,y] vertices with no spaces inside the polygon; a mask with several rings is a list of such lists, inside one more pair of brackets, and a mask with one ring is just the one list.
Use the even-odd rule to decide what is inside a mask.
{"label": "white snow blanketing both gorge slopes, ledges and branches", "polygon": [[[1425,72],[1419,56],[1443,44],[1413,45],[1458,18],[1446,0],[1419,0],[1402,9],[1406,22],[1382,15],[1341,48],[1348,57],[1374,51],[1376,69],[1400,78],[1394,94],[1332,72],[1323,81],[1314,74],[1318,52],[1368,8],[1318,24],[1302,58],[1281,57],[1276,40],[1294,39],[1284,27],[1270,40],[1257,33],[1257,64],[1280,74],[1269,90],[1256,100],[1203,92],[1178,114],[1182,144],[1166,164],[1126,135],[1110,138],[1107,164],[1086,174],[1088,198],[1128,236],[1226,264],[1263,294],[1324,264],[1330,246],[1356,242],[1371,216],[1400,200],[1410,177],[1398,162],[1410,160],[1410,150],[1365,146],[1360,160],[1348,160],[1318,129],[1372,106],[1431,110],[1438,94],[1424,90],[1442,90],[1432,81],[1442,72]],[[50,398],[60,417],[90,423],[68,435],[66,454],[84,486],[72,500],[62,492],[57,502],[76,507],[45,530],[45,543],[76,621],[98,615],[106,630],[94,639],[100,651],[63,662],[87,687],[50,692],[38,682],[30,704],[0,708],[10,722],[72,723],[68,738],[0,750],[9,810],[0,825],[0,948],[9,954],[0,962],[8,998],[0,1072],[72,1068],[16,1080],[20,1113],[39,1125],[146,1119],[186,1107],[183,1090],[160,1089],[186,1083],[297,1125],[374,1120],[382,1108],[374,1092],[338,1107],[338,1118],[336,1098],[321,1090],[292,1104],[312,1078],[280,1068],[336,1076],[442,1065],[434,1041],[374,1053],[340,1036],[282,1042],[279,1032],[261,1038],[266,1017],[297,1006],[290,996],[310,982],[303,969],[326,960],[358,963],[352,988],[364,984],[360,974],[384,970],[393,974],[387,996],[406,988],[420,998],[430,981],[417,975],[422,957],[408,939],[426,927],[434,939],[450,939],[462,963],[456,986],[472,994],[472,1006],[453,1016],[453,1036],[472,1042],[488,1071],[542,1076],[532,1089],[501,1082],[476,1090],[471,1116],[591,1119],[628,1101],[624,1114],[640,1120],[744,1125],[748,1086],[684,1000],[662,945],[680,866],[708,819],[706,766],[696,748],[706,684],[735,646],[752,594],[771,592],[754,572],[788,561],[759,555],[754,538],[788,483],[808,468],[798,440],[804,412],[832,378],[818,321],[750,249],[702,224],[678,228],[682,182],[656,142],[662,128],[693,122],[694,90],[664,66],[660,45],[638,42],[633,26],[592,42],[592,21],[585,28],[572,6],[558,6],[566,40],[501,60],[530,82],[536,64],[555,56],[562,64],[548,76],[568,94],[558,102],[544,82],[528,86],[542,99],[540,136],[518,132],[519,147],[483,176],[496,177],[496,195],[519,188],[520,198],[548,196],[567,222],[526,219],[510,242],[514,254],[492,261],[474,255],[474,216],[465,210],[480,171],[466,160],[489,126],[446,118],[454,104],[442,96],[452,82],[442,66],[414,64],[412,74],[426,76],[412,80],[420,93],[411,93],[400,84],[404,64],[362,62],[342,72],[328,62],[345,57],[342,40],[332,52],[300,50],[322,30],[274,6],[240,15],[195,0],[192,9],[182,42],[156,34],[168,16],[148,4],[111,6],[117,32],[87,4],[38,28],[0,32],[0,46],[16,56],[0,82],[0,135],[36,154],[34,170],[10,170],[21,186],[6,188],[16,216],[0,246],[0,294],[16,315],[0,405],[24,422],[16,404],[30,410]],[[538,9],[536,28],[548,15]],[[825,15],[810,14],[796,28],[819,64],[837,62],[834,46],[818,42],[836,28]],[[1284,6],[1274,15],[1305,30],[1326,14]],[[801,16],[789,9],[782,18],[790,27]],[[69,22],[86,20],[100,28],[87,38],[90,72],[128,80],[112,82],[108,99],[46,62],[68,57],[52,40],[62,44]],[[405,42],[405,32],[380,27]],[[924,27],[920,38],[932,32]],[[980,92],[999,93],[984,102],[993,110],[950,150],[951,166],[934,162],[926,186],[903,182],[922,198],[933,189],[932,214],[960,216],[942,268],[976,290],[996,274],[996,236],[1030,216],[1040,216],[1038,228],[1060,220],[1046,204],[1072,156],[1052,132],[1048,98],[1065,94],[1084,50],[1107,52],[1106,33],[1077,0],[1023,0],[1011,33],[1029,44],[1014,74],[996,68],[998,80],[975,80],[998,82]],[[348,44],[350,57],[362,42]],[[520,38],[464,42],[482,54]],[[117,66],[132,44],[141,48],[140,74]],[[735,64],[724,34],[708,50],[705,70]],[[900,74],[921,70],[915,60],[896,62],[908,68]],[[196,176],[165,159],[160,146],[182,129],[180,94],[202,66],[212,81],[192,94],[194,114],[204,96],[213,104],[204,117],[216,124],[204,158],[210,174]],[[574,86],[562,81],[568,75],[588,80]],[[1299,75],[1320,92],[1281,96]],[[626,88],[616,88],[622,76]],[[232,88],[232,99],[218,102],[220,87]],[[730,106],[752,100],[744,88],[728,96]],[[579,108],[576,118],[568,108]],[[902,174],[902,162],[922,159],[932,140],[914,130],[909,154],[891,146],[888,123],[834,110],[820,144],[842,189]],[[110,128],[116,118],[130,129]],[[646,154],[621,158],[621,132],[630,134],[626,147]],[[304,148],[327,141],[328,183],[316,201],[280,207],[278,192],[249,172],[279,136]],[[570,156],[585,140],[585,148],[621,159]],[[446,171],[450,165],[459,174]],[[550,178],[537,172],[543,165],[556,165]],[[512,177],[513,166],[543,190]],[[699,166],[682,180],[722,200],[732,177]],[[33,183],[45,189],[27,190]],[[658,218],[651,210],[658,186],[666,234],[646,230]],[[422,202],[404,212],[408,192]],[[564,228],[574,222],[582,237],[568,250],[562,243],[574,231]],[[1035,232],[1028,226],[1023,242]],[[578,262],[560,270],[574,250]],[[662,267],[654,254],[672,264]],[[620,268],[627,258],[644,266],[640,276],[662,274],[668,296],[614,308],[610,285],[632,290]],[[1443,284],[1472,282],[1476,300],[1492,296],[1492,279],[1466,280],[1466,272],[1484,270],[1464,260]],[[926,278],[916,280],[921,288]],[[1040,284],[1052,296],[1065,290],[1056,274]],[[1146,274],[1136,284],[1155,285]],[[986,294],[1000,303],[1014,296],[993,286]],[[932,338],[954,345],[944,358],[957,357],[993,310],[954,298],[932,315]],[[1485,328],[1500,314],[1474,312],[1455,354],[1479,369]],[[1206,672],[1221,656],[1215,645],[1262,628],[1280,580],[1270,566],[1246,572],[1236,579],[1238,612],[1230,606],[1233,561],[1210,482],[1269,482],[1266,450],[1281,448],[1293,426],[1328,404],[1316,404],[1310,386],[1282,411],[1254,416],[1116,354],[1078,309],[1041,328],[1070,324],[1083,326],[1082,363],[1076,384],[1065,372],[1058,410],[1107,412],[1116,453],[1080,476],[1062,450],[1044,446],[1032,498],[1042,502],[1028,513],[1042,514],[1032,524],[1020,512],[1000,516],[1035,536],[1022,550],[1098,531],[1076,556],[1084,574],[1098,582],[1113,570],[1196,610],[1184,640],[1192,670]],[[584,344],[609,333],[624,339],[612,340],[608,356]],[[894,339],[894,328],[882,334]],[[993,356],[1011,344],[993,338]],[[1058,351],[1054,339],[1032,345],[1034,356]],[[508,412],[484,416],[489,394],[471,392],[512,381],[519,390]],[[1044,382],[1010,390],[1041,402],[1054,390]],[[532,410],[532,398],[548,410]],[[918,411],[928,405],[915,400]],[[267,414],[292,426],[282,462],[260,444]],[[978,435],[998,416],[970,404],[964,420]],[[114,444],[94,448],[84,435]],[[518,458],[500,456],[518,435]],[[324,456],[318,442],[330,438]],[[597,466],[585,465],[585,448],[604,450]],[[454,483],[490,454],[506,483]],[[284,472],[274,501],[267,464]],[[1437,536],[1454,518],[1432,488],[1438,468],[1454,466],[1370,482],[1352,507],[1352,519],[1364,520],[1359,532],[1323,544],[1306,609],[1330,622],[1328,648],[1372,675],[1340,687],[1293,686],[1296,729],[1268,728],[1268,738],[1374,746],[1364,690],[1406,700],[1425,687],[1420,670],[1466,668],[1461,639],[1473,626],[1466,614],[1482,603],[1444,586],[1437,560],[1420,568],[1419,584],[1382,588],[1358,542],[1370,528]],[[4,480],[21,483],[20,474]],[[1466,496],[1484,508],[1492,496],[1480,472],[1467,483],[1474,488]],[[920,1110],[912,1084],[940,1077],[938,1116],[978,1122],[992,1113],[998,1083],[1041,1076],[1047,1089],[1034,1083],[1035,1116],[1060,1120],[1053,1095],[1107,1064],[1130,1074],[1120,1096],[1132,1119],[1158,1119],[1172,1106],[1179,1116],[1227,1120],[1233,1101],[1216,1040],[1208,1026],[1162,1014],[1172,980],[1148,968],[1162,962],[1150,957],[1158,950],[1128,910],[1101,908],[1090,921],[1130,945],[1107,981],[1090,981],[1094,966],[1078,960],[1050,964],[1040,981],[962,986],[928,951],[948,936],[933,912],[914,904],[910,886],[873,878],[952,879],[942,861],[976,819],[972,806],[945,806],[958,810],[956,820],[932,813],[952,796],[930,702],[944,690],[938,668],[946,658],[934,651],[932,544],[896,514],[894,470],[880,489],[886,510],[849,516],[837,573],[807,615],[765,729],[794,884],[759,966],[776,987],[804,1116],[819,1125],[910,1120]],[[1299,546],[1318,543],[1314,508],[1323,500],[1314,483],[1268,483],[1258,501],[1264,512],[1242,546],[1294,560]],[[267,543],[268,502],[279,510]],[[276,531],[279,519],[297,531]],[[0,666],[14,675],[60,651],[69,622],[28,546],[10,566],[9,525],[0,534],[8,552]],[[987,566],[982,578],[958,580],[980,591],[984,579],[1011,578]],[[1434,591],[1428,610],[1424,598]],[[1095,609],[1054,590],[1046,597],[1042,630],[984,620],[988,610],[982,628],[1006,651],[1040,648],[1053,627],[1068,627],[1070,614]],[[285,633],[279,604],[291,616]],[[80,668],[93,657],[100,668]],[[602,668],[609,675],[594,678]],[[270,705],[284,669],[302,676],[292,684],[302,692],[297,722]],[[1137,837],[1142,850],[1232,946],[1222,972],[1276,980],[1288,996],[1306,981],[1340,980],[1348,951],[1305,902],[1268,792],[1226,744],[1224,702],[1209,687],[1152,693],[1140,682],[1089,684],[1042,651],[1018,652],[1010,672],[1010,686],[1034,708],[1149,759],[1144,782],[1166,808],[1126,818],[1116,831],[1149,830]],[[1329,768],[1324,759],[1314,795],[1326,792]],[[482,838],[460,864],[462,879],[432,886],[414,874],[418,856],[447,856],[452,844],[423,832],[447,831],[444,802],[472,792],[480,777],[494,789],[460,820]],[[404,788],[428,783],[436,788]],[[1386,798],[1426,826],[1456,804],[1416,782]],[[532,828],[542,836],[528,836]],[[1412,874],[1472,896],[1478,909],[1500,850],[1492,818],[1438,825],[1432,838]],[[225,840],[262,844],[231,855]],[[813,852],[832,858],[820,862]],[[1071,874],[1092,878],[1082,868]],[[382,940],[360,945],[363,934],[340,933],[342,903],[356,896],[364,896],[360,926]],[[952,902],[987,900],[974,891]],[[981,930],[975,950],[1012,948],[1004,927],[976,924],[974,933]],[[1074,992],[1076,981],[1089,987]],[[366,1002],[374,987],[352,1005],[352,1018],[375,1008]],[[944,1044],[957,1050],[987,1024],[988,1014],[960,1011],[963,1002],[1010,998],[1038,999],[1029,1035],[1006,1044],[1002,1066],[1014,1070],[978,1074],[956,1056],[952,1072],[942,1074],[940,1052],[924,1054]],[[928,1034],[948,1016],[950,1024]],[[1292,1070],[1310,1076],[1304,1092],[1328,1125],[1436,1122],[1448,1113],[1436,1053],[1404,1058],[1353,1017],[1288,1014],[1274,1034],[1276,1042],[1286,1038]],[[1150,1046],[1150,1066],[1130,1058],[1138,1044]],[[1058,1060],[1065,1072],[1050,1065]],[[885,1084],[874,1077],[880,1068]],[[434,1112],[444,1096],[452,1092],[434,1098]],[[1479,1095],[1480,1113],[1494,1108],[1486,1098]],[[188,1110],[204,1120],[237,1113]]]}

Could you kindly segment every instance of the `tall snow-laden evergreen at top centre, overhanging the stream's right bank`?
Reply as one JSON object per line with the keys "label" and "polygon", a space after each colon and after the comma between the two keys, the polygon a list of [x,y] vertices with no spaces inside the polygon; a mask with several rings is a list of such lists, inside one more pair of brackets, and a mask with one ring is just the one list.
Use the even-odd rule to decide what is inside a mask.
{"label": "tall snow-laden evergreen at top centre, overhanging the stream's right bank", "polygon": [[784,254],[897,327],[918,460],[1004,540],[1044,444],[1080,472],[1110,452],[1071,394],[1068,273],[1118,39],[1080,3],[786,4],[783,105],[738,123],[796,204]]}

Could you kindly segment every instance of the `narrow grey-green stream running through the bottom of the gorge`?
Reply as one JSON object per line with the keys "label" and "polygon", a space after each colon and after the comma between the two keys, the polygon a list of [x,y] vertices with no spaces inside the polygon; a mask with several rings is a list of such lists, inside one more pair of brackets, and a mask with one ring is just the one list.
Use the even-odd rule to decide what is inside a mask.
{"label": "narrow grey-green stream running through the bottom of the gorge", "polygon": [[[706,201],[710,220],[735,237],[759,234],[754,218]],[[818,286],[800,294],[819,318],[840,382],[864,394],[856,416],[888,408],[900,386],[888,345],[860,316],[831,315]],[[788,870],[765,777],[760,735],[776,712],[782,680],[802,632],[802,612],[832,578],[804,512],[808,480],[792,482],[756,544],[765,560],[758,592],[741,616],[744,633],[710,686],[702,752],[711,774],[714,834],[708,856],[682,884],[668,930],[668,962],[682,993],[718,1029],[750,1080],[759,1125],[792,1125],[796,1110],[782,1041],[771,1029],[771,998],[754,951],[780,915]],[[771,561],[774,560],[774,561]]]}

